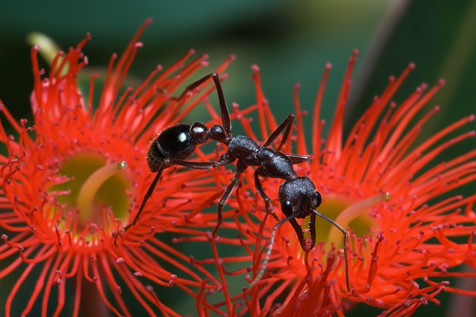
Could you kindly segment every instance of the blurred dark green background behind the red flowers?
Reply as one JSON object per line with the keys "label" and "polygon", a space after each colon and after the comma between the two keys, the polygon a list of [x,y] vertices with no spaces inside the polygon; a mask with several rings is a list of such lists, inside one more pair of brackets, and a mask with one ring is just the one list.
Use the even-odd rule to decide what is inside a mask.
{"label": "blurred dark green background behind the red flowers", "polygon": [[[403,101],[421,82],[431,86],[439,77],[446,79],[444,89],[426,108],[440,105],[441,111],[424,126],[421,139],[475,110],[474,0],[4,1],[0,4],[1,100],[17,119],[30,117],[33,80],[30,47],[25,40],[28,33],[40,31],[67,49],[90,32],[91,41],[84,48],[89,57],[88,67],[100,70],[98,67],[107,65],[111,53],[123,51],[148,17],[154,22],[141,38],[144,48],[133,63],[132,77],[144,78],[156,64],[171,65],[188,48],[210,55],[211,64],[206,71],[234,53],[238,59],[228,68],[230,77],[224,83],[228,103],[254,103],[254,86],[249,76],[250,65],[256,63],[277,121],[293,111],[292,89],[297,82],[301,83],[301,107],[312,109],[324,66],[331,62],[333,68],[322,109],[322,117],[330,122],[354,48],[359,49],[360,55],[348,103],[349,128],[370,105],[372,97],[387,86],[388,76],[400,74],[409,62],[415,62],[417,68],[397,93],[397,102]],[[43,67],[47,68],[44,61]],[[211,101],[217,104],[213,97]],[[197,116],[208,119],[204,109]],[[304,122],[310,131],[311,116],[305,117]],[[310,137],[307,140],[310,142]],[[458,144],[450,156],[443,155],[438,161],[469,148],[474,148],[474,141]],[[460,191],[465,195],[473,192],[474,186]],[[185,254],[192,253],[192,249],[187,253],[187,246],[181,247]],[[10,289],[9,281],[18,278],[20,272],[16,274],[2,281],[2,306]],[[243,286],[242,279],[235,279],[236,289]],[[230,281],[230,287],[233,283]],[[193,302],[186,302],[180,294],[172,295],[170,303],[165,303],[181,314],[193,314]],[[442,301],[441,307],[430,303],[419,308],[416,316],[454,316],[451,304],[456,303],[455,299],[447,294],[437,298]],[[474,316],[474,302],[471,305],[472,313],[468,316]],[[63,316],[68,316],[66,312],[67,309]],[[381,309],[362,304],[348,316],[376,316],[380,312]],[[458,313],[458,317],[464,316]]]}

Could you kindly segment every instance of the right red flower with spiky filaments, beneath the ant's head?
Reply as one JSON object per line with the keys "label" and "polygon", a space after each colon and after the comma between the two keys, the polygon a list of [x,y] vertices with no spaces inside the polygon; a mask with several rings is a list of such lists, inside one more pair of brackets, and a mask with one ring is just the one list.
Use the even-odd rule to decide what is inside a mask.
{"label": "right red flower with spiky filaments, beneath the ant's head", "polygon": [[[243,294],[228,296],[225,302],[212,306],[206,297],[202,297],[199,303],[204,309],[227,304],[228,315],[235,316],[237,308],[232,306],[232,302],[244,299],[246,307],[238,316],[247,310],[251,316],[265,316],[273,311],[274,314],[269,315],[329,316],[334,312],[343,316],[349,303],[363,302],[386,309],[382,316],[407,316],[430,301],[439,305],[435,296],[443,289],[476,295],[476,292],[447,287],[445,281],[450,276],[475,276],[474,273],[459,273],[451,269],[463,262],[474,264],[472,239],[476,234],[473,209],[476,196],[464,198],[447,194],[474,182],[476,151],[470,150],[445,163],[433,163],[437,154],[475,135],[470,131],[449,137],[463,125],[473,122],[475,116],[469,115],[417,143],[420,128],[438,111],[438,107],[426,115],[419,117],[417,114],[444,81],[440,80],[427,92],[426,85],[421,85],[397,105],[391,99],[414,68],[410,64],[400,77],[390,77],[385,91],[374,98],[349,137],[343,140],[343,117],[356,56],[357,52],[350,58],[334,121],[324,141],[321,140],[324,121],[319,119],[319,109],[329,75],[330,65],[327,65],[313,114],[311,160],[297,167],[298,175],[310,177],[322,194],[323,202],[318,211],[348,228],[350,234],[346,248],[352,292],[346,290],[342,233],[326,221],[319,221],[316,240],[321,242],[313,250],[304,252],[293,228],[285,223],[276,233],[277,239],[267,265],[269,274],[265,274],[253,288],[244,288]],[[266,140],[277,124],[264,99],[258,67],[253,67],[253,70],[260,138]],[[304,113],[300,110],[297,88],[294,90],[297,154],[306,154],[309,152],[301,121]],[[418,117],[417,123],[411,124]],[[241,121],[248,135],[256,139],[248,122]],[[290,143],[283,152],[291,153]],[[244,246],[248,256],[219,259],[215,252],[215,259],[220,263],[252,261],[252,272],[246,277],[251,282],[258,274],[271,229],[277,221],[262,211],[263,204],[257,199],[257,194],[254,198],[249,197],[249,192],[256,193],[253,173],[244,174],[242,181],[236,202],[231,199],[229,202],[244,213],[244,221],[235,216],[233,224],[241,235],[238,240],[222,239],[221,242]],[[268,196],[277,202],[277,189],[282,180],[263,181]],[[278,204],[275,207],[278,217],[283,217]],[[248,210],[255,211],[253,215],[261,224],[245,213]],[[300,223],[306,225],[307,222],[308,219]],[[230,222],[228,224],[231,226]],[[456,243],[455,237],[462,237],[467,242]],[[220,265],[218,269],[223,271]],[[228,274],[246,271],[250,272],[251,268]],[[281,301],[284,298],[280,308],[278,296],[282,297]]]}

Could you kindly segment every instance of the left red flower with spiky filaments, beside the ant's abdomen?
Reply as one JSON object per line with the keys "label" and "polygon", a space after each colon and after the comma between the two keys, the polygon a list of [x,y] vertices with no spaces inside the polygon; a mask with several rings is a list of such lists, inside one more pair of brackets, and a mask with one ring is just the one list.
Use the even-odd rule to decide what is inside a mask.
{"label": "left red flower with spiky filaments, beside the ant's abdomen", "polygon": [[[154,232],[187,231],[175,227],[187,224],[215,198],[213,172],[166,170],[155,190],[155,201],[149,200],[138,224],[119,238],[119,248],[113,244],[114,234],[132,221],[153,178],[145,158],[149,142],[164,128],[180,122],[214,89],[202,90],[190,102],[170,100],[164,93],[179,94],[178,86],[207,65],[205,56],[185,64],[193,53],[190,51],[164,71],[158,66],[139,87],[121,90],[137,49],[142,46],[138,38],[149,23],[148,20],[139,29],[117,61],[117,56],[112,56],[99,104],[94,108],[97,76],[91,78],[87,97],[82,96],[76,79],[88,62],[81,49],[89,35],[77,48],[58,54],[50,75],[43,79],[44,71],[39,69],[37,60],[40,48],[32,49],[33,125],[28,126],[25,119],[17,122],[0,103],[1,112],[18,134],[7,135],[0,125],[0,142],[8,149],[7,156],[0,156],[0,208],[4,210],[0,213],[0,227],[5,241],[0,247],[0,259],[10,259],[0,277],[22,270],[12,288],[7,290],[2,285],[2,292],[8,292],[6,316],[27,315],[41,292],[41,315],[46,316],[52,288],[58,288],[53,314],[58,316],[65,305],[65,284],[70,280],[75,289],[73,316],[88,305],[95,311],[106,305],[117,316],[131,316],[121,297],[124,290],[150,315],[160,311],[163,316],[178,316],[143,283],[177,285],[195,296],[190,287],[201,286],[203,276],[213,278],[154,237]],[[222,72],[230,60],[217,72]],[[212,158],[199,150],[197,154],[203,161]],[[178,271],[163,269],[153,256]],[[37,266],[42,268],[29,297],[19,298],[18,289]],[[122,280],[116,280],[117,275]],[[105,294],[108,289],[113,301]],[[89,299],[84,299],[88,293]],[[89,304],[82,305],[83,300]],[[22,307],[21,314],[12,310],[12,303],[20,302],[15,306]]]}

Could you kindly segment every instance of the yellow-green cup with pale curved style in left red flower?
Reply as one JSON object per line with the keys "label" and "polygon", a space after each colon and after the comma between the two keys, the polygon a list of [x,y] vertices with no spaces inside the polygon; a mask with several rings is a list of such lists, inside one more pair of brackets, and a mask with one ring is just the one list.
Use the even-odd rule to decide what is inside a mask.
{"label": "yellow-green cup with pale curved style in left red flower", "polygon": [[104,206],[111,207],[114,217],[127,221],[129,215],[129,196],[127,190],[132,187],[126,173],[125,161],[106,163],[95,154],[75,154],[61,164],[60,174],[70,178],[68,182],[53,186],[51,191],[69,191],[69,194],[57,195],[65,210],[78,210],[78,229],[84,228],[90,221],[103,226]]}

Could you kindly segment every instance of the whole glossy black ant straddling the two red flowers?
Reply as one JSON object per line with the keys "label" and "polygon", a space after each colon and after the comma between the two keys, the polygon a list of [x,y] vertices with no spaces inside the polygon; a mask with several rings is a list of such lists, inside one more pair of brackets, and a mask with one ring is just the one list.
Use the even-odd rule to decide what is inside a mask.
{"label": "whole glossy black ant straddling the two red flowers", "polygon": [[[337,227],[344,234],[344,257],[346,263],[346,284],[347,290],[350,292],[348,279],[348,261],[347,261],[347,231],[345,231],[336,222],[327,218],[323,214],[316,211],[316,208],[321,204],[322,198],[319,192],[316,191],[314,183],[307,176],[297,176],[293,165],[309,161],[309,157],[305,155],[283,154],[279,152],[282,146],[286,143],[291,131],[292,123],[296,117],[294,114],[289,114],[288,117],[273,131],[268,140],[263,145],[258,145],[253,139],[248,136],[238,135],[231,136],[231,123],[228,107],[225,102],[225,96],[220,84],[220,79],[217,73],[210,73],[205,77],[198,79],[196,82],[187,86],[185,91],[175,99],[180,99],[187,95],[188,92],[197,88],[209,78],[213,78],[215,83],[218,102],[220,106],[222,125],[213,125],[208,129],[205,125],[195,122],[192,125],[175,125],[159,134],[159,136],[152,142],[147,154],[147,162],[151,172],[157,172],[154,180],[150,184],[149,190],[144,196],[144,200],[140,205],[134,221],[122,229],[122,232],[127,231],[134,226],[139,220],[140,213],[143,211],[147,200],[149,200],[154,191],[160,175],[165,167],[171,165],[180,165],[194,169],[211,169],[216,166],[223,166],[236,163],[236,174],[233,180],[228,184],[227,189],[218,202],[218,221],[213,229],[213,235],[216,235],[218,228],[223,222],[222,209],[228,200],[229,196],[238,185],[241,174],[248,168],[248,166],[258,166],[255,170],[255,187],[258,194],[265,202],[265,209],[268,212],[269,198],[263,190],[259,176],[268,178],[280,178],[285,181],[279,186],[278,196],[281,204],[281,210],[286,218],[279,221],[271,231],[271,241],[268,247],[265,261],[262,269],[259,271],[257,278],[250,284],[255,285],[261,279],[266,264],[268,263],[274,243],[275,231],[285,222],[289,221],[296,231],[297,237],[301,247],[305,251],[314,248],[316,243],[316,215],[330,222]],[[273,150],[269,146],[278,138],[279,134],[284,131],[283,138],[277,148]],[[184,161],[193,154],[195,147],[198,144],[206,143],[209,139],[221,142],[227,145],[227,152],[218,158],[218,162],[189,162]],[[303,219],[307,216],[311,217],[309,221],[310,245],[307,247],[306,239],[302,227],[299,226],[295,218]],[[116,243],[116,235],[114,242]]]}

